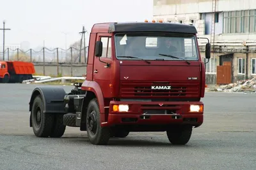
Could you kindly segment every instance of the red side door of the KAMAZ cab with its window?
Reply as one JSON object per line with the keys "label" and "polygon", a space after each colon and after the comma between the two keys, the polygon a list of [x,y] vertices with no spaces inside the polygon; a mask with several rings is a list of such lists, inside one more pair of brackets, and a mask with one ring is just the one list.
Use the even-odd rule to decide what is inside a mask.
{"label": "red side door of the KAMAZ cab with its window", "polygon": [[[102,42],[102,56],[100,58],[94,56],[93,81],[100,85],[104,97],[111,97],[111,88],[109,86],[112,82],[111,65],[113,61],[111,34],[97,34],[96,41]],[[110,63],[110,66],[107,67],[106,63]]]}

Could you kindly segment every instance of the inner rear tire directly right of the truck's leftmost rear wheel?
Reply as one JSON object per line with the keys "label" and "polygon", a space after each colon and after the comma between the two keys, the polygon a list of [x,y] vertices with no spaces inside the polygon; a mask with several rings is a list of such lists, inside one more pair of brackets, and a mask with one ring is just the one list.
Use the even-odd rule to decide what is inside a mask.
{"label": "inner rear tire directly right of the truck's leftmost rear wheel", "polygon": [[61,137],[66,130],[66,126],[63,125],[63,114],[54,115],[54,123],[50,137]]}

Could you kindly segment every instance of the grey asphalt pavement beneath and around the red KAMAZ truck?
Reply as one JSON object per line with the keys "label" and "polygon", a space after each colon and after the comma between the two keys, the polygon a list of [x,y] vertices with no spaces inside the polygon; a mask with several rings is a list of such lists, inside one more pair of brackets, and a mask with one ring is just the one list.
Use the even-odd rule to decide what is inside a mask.
{"label": "grey asphalt pavement beneath and around the red KAMAZ truck", "polygon": [[94,146],[79,128],[60,139],[35,137],[28,112],[35,86],[0,84],[0,169],[256,169],[256,93],[205,93],[204,124],[186,146],[173,146],[164,132]]}

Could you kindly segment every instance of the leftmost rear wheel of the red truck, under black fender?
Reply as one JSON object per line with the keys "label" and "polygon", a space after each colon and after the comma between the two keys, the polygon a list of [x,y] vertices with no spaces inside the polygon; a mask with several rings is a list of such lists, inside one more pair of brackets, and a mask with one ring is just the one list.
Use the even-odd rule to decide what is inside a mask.
{"label": "leftmost rear wheel of the red truck, under black fender", "polygon": [[42,97],[38,95],[31,109],[31,121],[33,132],[37,137],[49,137],[52,133],[52,125],[54,116],[43,112],[44,102]]}

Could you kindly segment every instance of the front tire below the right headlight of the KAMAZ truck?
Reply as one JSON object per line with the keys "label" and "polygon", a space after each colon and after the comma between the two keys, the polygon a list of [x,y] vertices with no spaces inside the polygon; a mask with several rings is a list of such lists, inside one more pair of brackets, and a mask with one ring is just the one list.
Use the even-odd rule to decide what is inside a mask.
{"label": "front tire below the right headlight of the KAMAZ truck", "polygon": [[177,128],[173,128],[166,131],[167,137],[172,144],[187,144],[191,134],[192,134],[192,126],[184,125]]}

